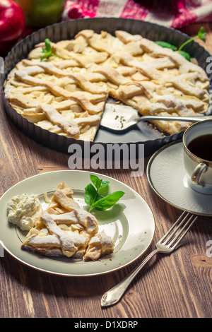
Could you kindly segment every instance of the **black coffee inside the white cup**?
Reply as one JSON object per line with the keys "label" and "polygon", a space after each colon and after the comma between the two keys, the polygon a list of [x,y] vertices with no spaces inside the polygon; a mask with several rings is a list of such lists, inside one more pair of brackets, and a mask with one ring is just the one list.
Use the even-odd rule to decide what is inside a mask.
{"label": "black coffee inside the white cup", "polygon": [[212,134],[194,138],[187,146],[196,157],[212,161]]}

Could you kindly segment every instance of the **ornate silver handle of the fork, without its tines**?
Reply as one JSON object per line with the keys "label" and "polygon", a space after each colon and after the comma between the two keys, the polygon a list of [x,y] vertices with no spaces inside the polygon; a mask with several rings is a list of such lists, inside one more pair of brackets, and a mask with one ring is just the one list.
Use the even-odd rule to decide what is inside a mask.
{"label": "ornate silver handle of the fork, without its tines", "polygon": [[160,249],[156,248],[149,254],[146,259],[144,259],[139,266],[137,266],[129,275],[127,275],[126,278],[124,278],[120,283],[115,285],[111,288],[111,290],[108,290],[105,292],[104,295],[102,295],[101,305],[102,307],[107,307],[109,305],[112,305],[114,303],[117,303],[122,295],[124,294],[126,288],[129,286],[131,281],[135,278],[135,276],[141,271],[141,268],[146,265],[146,263],[160,251]]}

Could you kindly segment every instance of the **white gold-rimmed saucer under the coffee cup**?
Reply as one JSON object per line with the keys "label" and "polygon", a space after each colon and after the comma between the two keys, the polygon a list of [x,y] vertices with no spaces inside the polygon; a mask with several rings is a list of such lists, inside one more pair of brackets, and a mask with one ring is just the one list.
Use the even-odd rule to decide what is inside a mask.
{"label": "white gold-rimmed saucer under the coffee cup", "polygon": [[212,195],[199,194],[189,185],[182,141],[160,148],[149,160],[146,172],[148,182],[164,201],[190,213],[212,216]]}

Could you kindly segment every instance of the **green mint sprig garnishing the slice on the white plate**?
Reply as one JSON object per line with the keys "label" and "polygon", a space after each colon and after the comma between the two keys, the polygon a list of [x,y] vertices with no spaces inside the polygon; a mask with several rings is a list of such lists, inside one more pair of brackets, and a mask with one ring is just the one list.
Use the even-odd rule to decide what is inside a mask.
{"label": "green mint sprig garnishing the slice on the white plate", "polygon": [[102,179],[99,179],[93,174],[90,174],[90,180],[93,184],[88,184],[88,186],[86,186],[84,194],[85,202],[90,206],[89,212],[94,208],[100,211],[105,211],[114,206],[124,195],[124,191],[114,191],[112,194],[102,196],[102,189],[106,189],[110,182],[102,181]]}

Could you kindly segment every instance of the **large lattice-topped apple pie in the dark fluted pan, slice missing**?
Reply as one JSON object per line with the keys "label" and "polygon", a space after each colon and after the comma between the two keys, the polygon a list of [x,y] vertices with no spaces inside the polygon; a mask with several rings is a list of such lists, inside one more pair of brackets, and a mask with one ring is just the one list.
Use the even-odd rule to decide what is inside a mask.
{"label": "large lattice-topped apple pie in the dark fluted pan, slice missing", "polygon": [[[172,49],[117,30],[82,30],[72,40],[51,42],[54,55],[41,61],[45,43],[18,62],[5,83],[16,112],[42,129],[93,141],[108,97],[142,115],[202,115],[208,110],[204,69]],[[188,123],[153,121],[175,134]]]}

